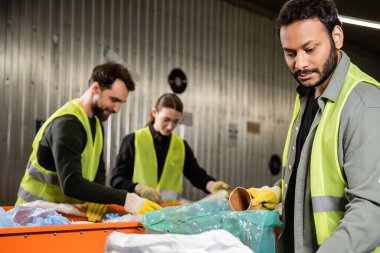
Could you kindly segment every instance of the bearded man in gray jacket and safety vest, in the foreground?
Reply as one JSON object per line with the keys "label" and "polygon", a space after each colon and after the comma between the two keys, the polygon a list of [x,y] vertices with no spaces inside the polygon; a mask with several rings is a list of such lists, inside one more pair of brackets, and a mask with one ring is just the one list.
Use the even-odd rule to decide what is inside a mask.
{"label": "bearded man in gray jacket and safety vest, in the foreground", "polygon": [[[277,185],[279,252],[380,252],[380,83],[341,50],[333,0],[290,0],[277,27],[298,84]],[[263,189],[256,198],[280,201]]]}

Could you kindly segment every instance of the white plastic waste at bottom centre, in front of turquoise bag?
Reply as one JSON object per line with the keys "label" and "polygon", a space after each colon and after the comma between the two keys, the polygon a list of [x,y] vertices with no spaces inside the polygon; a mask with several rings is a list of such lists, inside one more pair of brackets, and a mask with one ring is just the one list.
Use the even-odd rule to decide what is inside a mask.
{"label": "white plastic waste at bottom centre, in front of turquoise bag", "polygon": [[254,253],[231,233],[219,229],[196,235],[111,233],[106,253]]}

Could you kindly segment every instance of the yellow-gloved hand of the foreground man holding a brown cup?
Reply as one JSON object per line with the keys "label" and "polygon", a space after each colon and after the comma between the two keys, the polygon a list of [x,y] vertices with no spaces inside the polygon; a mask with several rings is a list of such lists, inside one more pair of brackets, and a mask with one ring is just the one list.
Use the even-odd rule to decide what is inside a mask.
{"label": "yellow-gloved hand of the foreground man holding a brown cup", "polygon": [[278,186],[249,188],[247,191],[252,197],[251,206],[253,207],[262,204],[263,209],[273,210],[280,200],[280,187]]}

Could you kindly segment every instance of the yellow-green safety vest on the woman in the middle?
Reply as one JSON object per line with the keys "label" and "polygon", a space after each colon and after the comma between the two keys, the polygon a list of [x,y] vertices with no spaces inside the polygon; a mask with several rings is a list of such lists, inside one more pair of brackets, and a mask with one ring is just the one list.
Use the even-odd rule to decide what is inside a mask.
{"label": "yellow-green safety vest on the woman in the middle", "polygon": [[182,192],[182,173],[185,163],[185,144],[175,133],[171,134],[168,154],[160,181],[157,157],[149,127],[135,132],[135,161],[132,181],[158,191]]}

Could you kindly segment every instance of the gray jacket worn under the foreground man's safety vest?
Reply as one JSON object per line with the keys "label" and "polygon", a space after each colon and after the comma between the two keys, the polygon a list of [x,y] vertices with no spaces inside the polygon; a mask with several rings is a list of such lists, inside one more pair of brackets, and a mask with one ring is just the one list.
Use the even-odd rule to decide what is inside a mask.
{"label": "gray jacket worn under the foreground man's safety vest", "polygon": [[[371,252],[380,245],[380,89],[358,84],[350,93],[341,114],[339,126],[339,164],[348,183],[348,204],[340,225],[318,249],[310,194],[309,163],[315,131],[326,101],[336,101],[350,66],[342,52],[326,90],[318,99],[319,110],[301,151],[297,170],[294,224],[296,253]],[[307,96],[300,97],[301,110],[293,125],[288,164],[283,168],[284,202],[295,160],[297,133],[305,110]],[[286,214],[283,214],[286,216]],[[279,241],[279,251],[291,253]]]}

